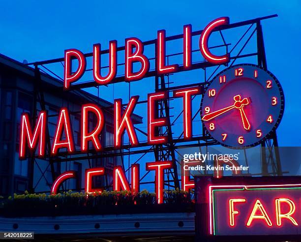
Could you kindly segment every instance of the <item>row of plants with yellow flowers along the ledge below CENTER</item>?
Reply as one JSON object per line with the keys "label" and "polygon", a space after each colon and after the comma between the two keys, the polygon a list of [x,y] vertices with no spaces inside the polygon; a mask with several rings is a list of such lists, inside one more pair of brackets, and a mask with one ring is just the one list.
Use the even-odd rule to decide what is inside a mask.
{"label": "row of plants with yellow flowers along the ledge below CENTER", "polygon": [[[147,190],[137,194],[130,191],[102,191],[94,193],[67,192],[50,195],[45,193],[14,194],[0,197],[0,212],[5,216],[58,216],[72,214],[108,214],[165,212],[188,205],[191,208],[192,194],[183,190],[164,190],[164,204],[156,204],[156,195]],[[163,206],[163,207],[162,207]],[[175,207],[176,206],[176,207]]]}

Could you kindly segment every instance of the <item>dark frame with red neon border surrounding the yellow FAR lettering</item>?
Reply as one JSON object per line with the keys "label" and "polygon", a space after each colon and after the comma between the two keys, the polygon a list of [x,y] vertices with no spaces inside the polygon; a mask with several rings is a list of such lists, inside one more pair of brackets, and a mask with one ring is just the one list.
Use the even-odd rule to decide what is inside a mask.
{"label": "dark frame with red neon border surrounding the yellow FAR lettering", "polygon": [[[204,241],[298,241],[300,234],[291,235],[214,235],[212,201],[214,188],[238,187],[301,187],[301,177],[195,177],[196,238]],[[251,206],[251,205],[250,205]],[[300,226],[300,224],[299,224]]]}

